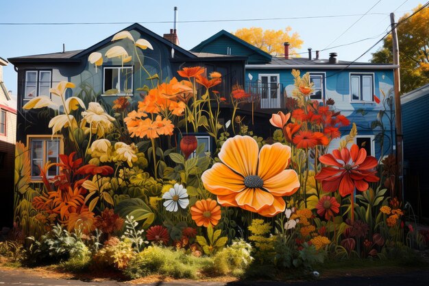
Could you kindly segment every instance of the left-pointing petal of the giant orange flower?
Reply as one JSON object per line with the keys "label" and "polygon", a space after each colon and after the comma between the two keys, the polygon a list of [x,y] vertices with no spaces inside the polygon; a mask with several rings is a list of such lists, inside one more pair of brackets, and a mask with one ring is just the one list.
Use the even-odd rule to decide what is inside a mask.
{"label": "left-pointing petal of the giant orange flower", "polygon": [[222,163],[215,163],[201,176],[204,187],[215,195],[230,195],[245,189],[244,178]]}

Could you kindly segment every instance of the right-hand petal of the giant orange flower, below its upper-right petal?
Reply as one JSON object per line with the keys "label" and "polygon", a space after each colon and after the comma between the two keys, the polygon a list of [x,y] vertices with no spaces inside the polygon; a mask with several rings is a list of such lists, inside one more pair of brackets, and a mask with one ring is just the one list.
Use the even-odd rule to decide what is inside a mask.
{"label": "right-hand petal of the giant orange flower, below its upper-right petal", "polygon": [[264,180],[263,187],[275,196],[292,195],[299,189],[298,175],[294,170],[283,170],[280,174]]}

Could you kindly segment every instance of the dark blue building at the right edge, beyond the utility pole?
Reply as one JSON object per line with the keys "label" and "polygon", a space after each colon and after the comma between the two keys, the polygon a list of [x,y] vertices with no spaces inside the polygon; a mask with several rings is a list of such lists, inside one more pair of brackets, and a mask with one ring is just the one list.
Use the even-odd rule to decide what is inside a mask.
{"label": "dark blue building at the right edge, beyond the utility pole", "polygon": [[[429,201],[429,84],[401,96],[404,135],[405,199],[419,217],[429,219],[424,203]],[[428,140],[426,140],[428,139]]]}

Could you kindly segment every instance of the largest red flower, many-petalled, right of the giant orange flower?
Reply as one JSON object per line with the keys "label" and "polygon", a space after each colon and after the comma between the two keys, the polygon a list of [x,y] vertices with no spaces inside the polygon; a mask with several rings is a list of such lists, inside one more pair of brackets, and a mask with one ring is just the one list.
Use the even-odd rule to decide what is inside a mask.
{"label": "largest red flower, many-petalled, right of the giant orange flower", "polygon": [[[333,156],[332,156],[333,154]],[[367,156],[364,148],[354,144],[350,148],[344,147],[341,152],[334,150],[332,154],[326,154],[319,158],[319,161],[332,167],[323,167],[316,180],[321,180],[323,191],[336,191],[342,197],[354,192],[354,188],[359,191],[367,191],[368,182],[378,182],[380,178],[373,171],[378,164],[373,156]]]}

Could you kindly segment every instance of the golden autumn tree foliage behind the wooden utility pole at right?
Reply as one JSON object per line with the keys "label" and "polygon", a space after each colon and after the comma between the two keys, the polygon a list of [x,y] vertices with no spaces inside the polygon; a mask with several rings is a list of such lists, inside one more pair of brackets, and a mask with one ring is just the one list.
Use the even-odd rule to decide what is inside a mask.
{"label": "golden autumn tree foliage behind the wooden utility pole at right", "polygon": [[[421,8],[419,5],[413,10]],[[410,14],[404,14],[401,23]],[[429,82],[429,8],[397,26],[400,49],[401,93],[407,93]],[[371,62],[393,62],[392,36],[384,38],[383,46],[372,54]]]}

